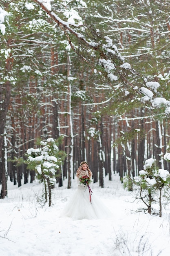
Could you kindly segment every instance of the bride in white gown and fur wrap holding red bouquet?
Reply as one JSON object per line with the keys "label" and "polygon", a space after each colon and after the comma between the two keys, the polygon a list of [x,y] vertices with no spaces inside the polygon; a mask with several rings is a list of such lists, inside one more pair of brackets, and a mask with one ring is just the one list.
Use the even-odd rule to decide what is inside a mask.
{"label": "bride in white gown and fur wrap holding red bouquet", "polygon": [[95,196],[89,186],[89,182],[87,181],[86,185],[82,184],[84,176],[87,176],[86,180],[91,182],[92,172],[87,162],[83,161],[80,163],[76,176],[79,183],[78,189],[66,204],[61,216],[70,217],[73,220],[105,219],[111,217],[111,212]]}

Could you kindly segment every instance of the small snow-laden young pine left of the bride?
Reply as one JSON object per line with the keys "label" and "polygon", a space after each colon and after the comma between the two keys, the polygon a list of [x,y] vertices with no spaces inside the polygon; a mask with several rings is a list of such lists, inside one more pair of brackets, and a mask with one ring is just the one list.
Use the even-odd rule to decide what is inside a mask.
{"label": "small snow-laden young pine left of the bride", "polygon": [[59,142],[49,138],[46,141],[40,141],[38,148],[29,148],[27,150],[28,168],[35,170],[36,179],[44,183],[45,200],[49,196],[49,207],[51,206],[51,189],[56,183],[56,176],[65,157],[65,153],[58,148]]}

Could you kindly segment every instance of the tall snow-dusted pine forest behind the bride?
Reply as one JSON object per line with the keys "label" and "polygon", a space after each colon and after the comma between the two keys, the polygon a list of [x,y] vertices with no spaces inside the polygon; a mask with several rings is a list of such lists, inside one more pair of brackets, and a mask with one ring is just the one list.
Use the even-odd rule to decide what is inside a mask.
{"label": "tall snow-dusted pine forest behind the bride", "polygon": [[34,171],[7,159],[50,137],[63,137],[57,183],[68,178],[68,189],[82,160],[101,187],[150,157],[170,171],[170,1],[46,0],[49,14],[39,2],[0,0],[0,182],[32,182]]}

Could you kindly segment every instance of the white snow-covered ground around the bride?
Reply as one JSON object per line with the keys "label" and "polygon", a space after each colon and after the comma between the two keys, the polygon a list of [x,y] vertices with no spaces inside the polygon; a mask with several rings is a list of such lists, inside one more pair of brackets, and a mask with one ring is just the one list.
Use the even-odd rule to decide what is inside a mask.
{"label": "white snow-covered ground around the bride", "polygon": [[[138,212],[144,207],[125,191],[119,176],[106,177],[105,188],[92,189],[112,213],[111,220],[60,218],[75,193],[64,186],[53,189],[53,205],[43,206],[42,185],[8,183],[8,198],[0,200],[0,256],[168,256],[170,205],[162,218]],[[1,186],[0,186],[1,189]]]}

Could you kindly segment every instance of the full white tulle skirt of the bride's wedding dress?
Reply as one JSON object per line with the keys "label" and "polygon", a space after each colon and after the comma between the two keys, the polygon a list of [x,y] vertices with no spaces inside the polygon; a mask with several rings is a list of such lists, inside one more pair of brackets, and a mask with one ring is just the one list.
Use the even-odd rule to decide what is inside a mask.
{"label": "full white tulle skirt of the bride's wedding dress", "polygon": [[79,184],[77,191],[62,211],[61,217],[70,217],[73,220],[106,219],[111,218],[112,213],[93,191],[89,193],[87,185]]}

